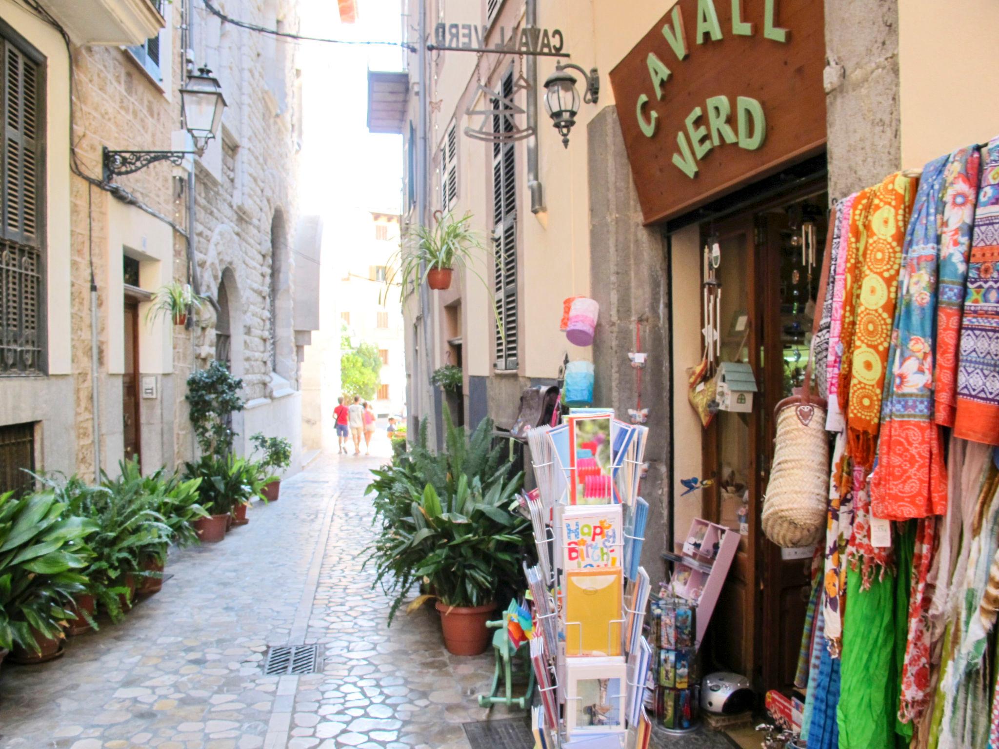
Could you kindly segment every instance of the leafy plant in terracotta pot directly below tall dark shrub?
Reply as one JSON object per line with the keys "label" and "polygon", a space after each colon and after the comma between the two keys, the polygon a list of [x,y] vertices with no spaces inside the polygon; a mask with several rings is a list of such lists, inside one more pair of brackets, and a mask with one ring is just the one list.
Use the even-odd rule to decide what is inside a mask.
{"label": "leafy plant in terracotta pot directly below tall dark shrub", "polygon": [[257,466],[245,457],[203,455],[186,462],[185,478],[200,478],[199,495],[206,516],[194,522],[203,543],[216,543],[226,537],[236,506],[253,496]]}

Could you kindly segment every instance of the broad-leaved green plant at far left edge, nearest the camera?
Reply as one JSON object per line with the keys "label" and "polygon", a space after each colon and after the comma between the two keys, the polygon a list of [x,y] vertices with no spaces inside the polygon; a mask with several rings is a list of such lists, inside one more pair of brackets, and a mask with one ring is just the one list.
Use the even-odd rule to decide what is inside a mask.
{"label": "broad-leaved green plant at far left edge, nearest the camera", "polygon": [[62,637],[73,596],[87,589],[80,570],[95,524],[68,511],[54,491],[0,494],[0,648],[41,652],[35,633]]}

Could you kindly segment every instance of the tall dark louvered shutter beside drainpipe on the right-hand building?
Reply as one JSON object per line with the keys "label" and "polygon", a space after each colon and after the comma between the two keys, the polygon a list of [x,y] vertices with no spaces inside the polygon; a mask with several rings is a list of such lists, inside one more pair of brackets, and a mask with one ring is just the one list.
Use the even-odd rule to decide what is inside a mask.
{"label": "tall dark louvered shutter beside drainpipe on the right-hand building", "polygon": [[[507,100],[513,95],[513,72],[502,80],[500,89]],[[493,102],[500,109],[500,102]],[[493,117],[495,132],[511,132],[513,123],[507,115]],[[494,292],[497,317],[502,328],[496,332],[496,367],[517,368],[519,325],[516,306],[516,159],[513,143],[493,145],[493,223],[496,241]],[[503,336],[505,334],[505,336]]]}

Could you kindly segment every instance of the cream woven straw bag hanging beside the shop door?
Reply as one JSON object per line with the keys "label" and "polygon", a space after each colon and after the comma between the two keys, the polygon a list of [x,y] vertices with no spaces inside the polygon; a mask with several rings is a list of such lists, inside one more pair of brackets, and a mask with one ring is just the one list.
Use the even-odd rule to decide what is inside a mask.
{"label": "cream woven straw bag hanging beside the shop door", "polygon": [[763,497],[763,533],[778,546],[807,546],[825,530],[829,499],[826,403],[806,391],[777,403],[770,481]]}

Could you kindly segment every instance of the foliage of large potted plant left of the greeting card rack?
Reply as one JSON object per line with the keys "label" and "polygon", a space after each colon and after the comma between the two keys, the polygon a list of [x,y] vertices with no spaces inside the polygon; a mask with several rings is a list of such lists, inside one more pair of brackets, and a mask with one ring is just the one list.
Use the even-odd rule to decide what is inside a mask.
{"label": "foliage of large potted plant left of the greeting card rack", "polygon": [[375,566],[374,584],[394,596],[390,624],[420,581],[454,606],[501,603],[520,586],[519,558],[529,529],[510,505],[522,474],[510,476],[502,448],[491,449],[490,419],[469,437],[447,411],[445,417],[444,452],[429,449],[425,420],[411,449],[373,470],[375,480],[366,489],[375,493],[380,530],[365,564]]}

